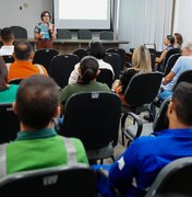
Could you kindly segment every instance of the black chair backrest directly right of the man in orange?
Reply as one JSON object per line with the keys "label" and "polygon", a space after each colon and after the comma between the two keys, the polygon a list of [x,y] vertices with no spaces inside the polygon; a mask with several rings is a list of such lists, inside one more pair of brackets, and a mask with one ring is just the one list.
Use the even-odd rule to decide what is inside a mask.
{"label": "black chair backrest directly right of the man in orange", "polygon": [[43,65],[49,73],[51,59],[58,54],[59,51],[55,48],[37,49],[34,55],[33,63]]}

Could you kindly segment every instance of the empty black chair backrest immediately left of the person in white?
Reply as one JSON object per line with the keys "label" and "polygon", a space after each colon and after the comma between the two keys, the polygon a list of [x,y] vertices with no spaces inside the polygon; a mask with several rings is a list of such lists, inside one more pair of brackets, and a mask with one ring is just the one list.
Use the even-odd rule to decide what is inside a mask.
{"label": "empty black chair backrest immediately left of the person in white", "polygon": [[51,60],[49,76],[62,89],[68,84],[70,74],[77,62],[80,58],[74,54],[57,55]]}

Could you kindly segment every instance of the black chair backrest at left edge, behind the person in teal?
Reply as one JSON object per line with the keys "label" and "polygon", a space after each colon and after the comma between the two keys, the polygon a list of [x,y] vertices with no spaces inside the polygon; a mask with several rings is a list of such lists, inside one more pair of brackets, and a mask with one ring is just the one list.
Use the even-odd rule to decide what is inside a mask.
{"label": "black chair backrest at left edge, behind the person in teal", "polygon": [[12,109],[12,103],[0,104],[0,143],[12,141],[20,130],[20,120]]}

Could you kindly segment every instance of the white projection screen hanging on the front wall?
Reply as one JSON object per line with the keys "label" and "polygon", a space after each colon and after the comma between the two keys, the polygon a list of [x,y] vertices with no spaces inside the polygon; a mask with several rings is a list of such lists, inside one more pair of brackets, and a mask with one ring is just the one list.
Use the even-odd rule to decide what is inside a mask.
{"label": "white projection screen hanging on the front wall", "polygon": [[110,30],[110,0],[53,0],[57,28]]}

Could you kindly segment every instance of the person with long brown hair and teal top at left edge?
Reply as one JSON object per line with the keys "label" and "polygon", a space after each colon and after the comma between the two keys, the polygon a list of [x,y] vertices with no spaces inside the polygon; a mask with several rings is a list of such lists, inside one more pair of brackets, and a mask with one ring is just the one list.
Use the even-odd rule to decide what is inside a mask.
{"label": "person with long brown hair and teal top at left edge", "polygon": [[0,103],[12,103],[16,97],[17,85],[8,84],[8,70],[0,56]]}

